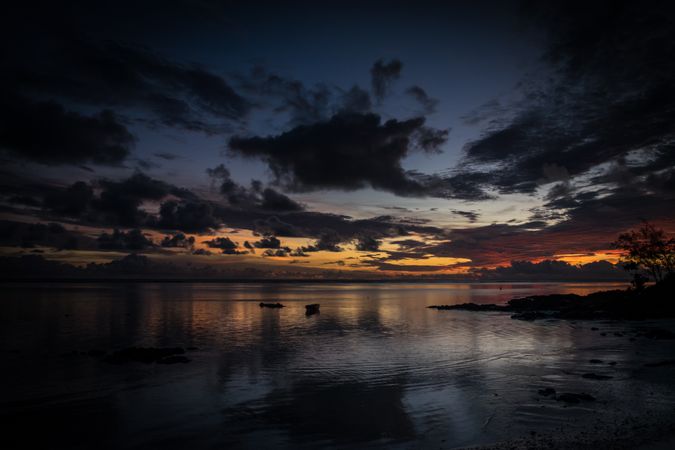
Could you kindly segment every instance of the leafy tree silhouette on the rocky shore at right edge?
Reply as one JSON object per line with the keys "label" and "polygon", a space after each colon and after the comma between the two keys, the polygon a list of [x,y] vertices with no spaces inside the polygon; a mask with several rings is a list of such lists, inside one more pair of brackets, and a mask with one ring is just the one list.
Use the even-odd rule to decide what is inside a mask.
{"label": "leafy tree silhouette on the rocky shore at right edge", "polygon": [[633,284],[638,289],[646,281],[641,272],[656,282],[675,272],[675,239],[668,239],[663,230],[647,221],[639,229],[619,235],[612,245],[623,250],[621,262],[634,273]]}

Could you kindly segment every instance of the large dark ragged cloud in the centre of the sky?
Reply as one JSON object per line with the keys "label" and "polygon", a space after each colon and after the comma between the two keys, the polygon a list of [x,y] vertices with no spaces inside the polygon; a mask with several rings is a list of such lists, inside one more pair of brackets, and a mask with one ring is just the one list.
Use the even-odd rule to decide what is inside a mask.
{"label": "large dark ragged cloud in the centre of the sky", "polygon": [[437,151],[446,135],[424,126],[421,117],[381,123],[375,114],[338,114],[278,136],[235,136],[229,149],[235,155],[262,159],[276,182],[292,191],[371,186],[423,196],[430,193],[429,186],[410,176],[401,162],[415,150]]}

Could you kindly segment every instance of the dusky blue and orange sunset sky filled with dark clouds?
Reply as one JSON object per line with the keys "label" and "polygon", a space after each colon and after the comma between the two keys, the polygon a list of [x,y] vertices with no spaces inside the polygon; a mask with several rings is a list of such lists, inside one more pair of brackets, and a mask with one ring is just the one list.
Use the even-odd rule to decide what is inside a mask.
{"label": "dusky blue and orange sunset sky filled with dark clouds", "polygon": [[619,277],[675,232],[675,14],[539,3],[11,5],[3,264]]}

